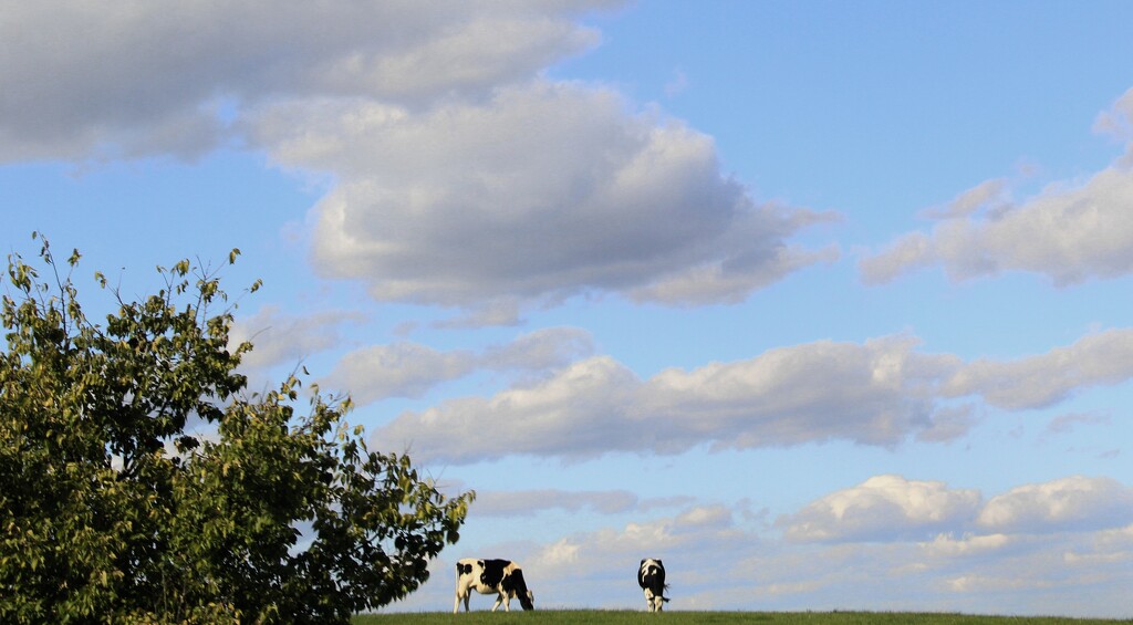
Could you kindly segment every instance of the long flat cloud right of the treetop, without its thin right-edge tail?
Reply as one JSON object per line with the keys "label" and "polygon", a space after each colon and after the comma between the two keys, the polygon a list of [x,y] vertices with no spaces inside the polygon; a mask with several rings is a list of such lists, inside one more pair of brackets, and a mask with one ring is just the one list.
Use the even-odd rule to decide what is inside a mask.
{"label": "long flat cloud right of the treetop, without its thin right-edge tail", "polygon": [[[915,343],[906,336],[824,341],[648,380],[597,356],[539,384],[406,412],[374,438],[409,444],[423,461],[454,463],[508,454],[679,453],[702,443],[893,445],[932,426],[931,388],[953,361],[915,353]],[[486,431],[486,420],[506,427]]]}

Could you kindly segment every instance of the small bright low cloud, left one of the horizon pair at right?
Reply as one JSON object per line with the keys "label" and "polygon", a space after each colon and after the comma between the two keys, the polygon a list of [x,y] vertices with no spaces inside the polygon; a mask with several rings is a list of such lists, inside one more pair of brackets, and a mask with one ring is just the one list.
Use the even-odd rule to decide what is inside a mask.
{"label": "small bright low cloud, left one of the horizon pair at right", "polygon": [[980,494],[943,482],[878,476],[832,493],[780,520],[787,540],[893,541],[963,525],[980,505]]}

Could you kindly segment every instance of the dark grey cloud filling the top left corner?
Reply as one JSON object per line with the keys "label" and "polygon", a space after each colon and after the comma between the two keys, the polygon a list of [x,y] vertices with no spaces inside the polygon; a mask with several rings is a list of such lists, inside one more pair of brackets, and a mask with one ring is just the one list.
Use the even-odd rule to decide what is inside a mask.
{"label": "dark grey cloud filling the top left corner", "polygon": [[242,0],[19,3],[0,22],[0,162],[199,154],[223,108],[477,96],[594,45],[602,0],[434,6]]}

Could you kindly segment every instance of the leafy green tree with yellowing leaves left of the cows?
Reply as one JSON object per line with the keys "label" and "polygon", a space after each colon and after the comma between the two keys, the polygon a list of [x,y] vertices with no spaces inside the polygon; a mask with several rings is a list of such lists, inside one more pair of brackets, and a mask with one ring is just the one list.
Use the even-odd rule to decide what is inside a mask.
{"label": "leafy green tree with yellowing leaves left of the cows", "polygon": [[300,410],[296,375],[249,394],[218,272],[159,267],[139,301],[96,273],[100,325],[78,251],[40,240],[2,298],[0,622],[344,623],[428,577],[472,493],[368,451],[349,397]]}

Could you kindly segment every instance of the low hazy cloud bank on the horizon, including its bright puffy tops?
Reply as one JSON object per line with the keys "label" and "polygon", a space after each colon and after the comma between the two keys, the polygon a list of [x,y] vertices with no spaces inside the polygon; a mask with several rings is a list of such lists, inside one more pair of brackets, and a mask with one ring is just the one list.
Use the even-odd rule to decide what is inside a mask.
{"label": "low hazy cloud bank on the horizon, including its bright puffy tops", "polygon": [[[580,507],[619,514],[631,505],[617,493],[556,496],[566,502],[563,514]],[[637,606],[629,568],[648,554],[663,557],[681,609],[1039,615],[1082,606],[1082,615],[1122,618],[1133,571],[1131,497],[1130,486],[1084,476],[986,497],[889,474],[784,515],[775,529],[786,540],[752,526],[742,504],[697,502],[619,526],[497,547],[521,562],[536,593],[555,605]],[[1005,507],[1012,514],[1003,515]],[[449,576],[438,576],[407,609],[451,601]],[[615,596],[624,599],[594,606],[594,597],[610,596],[603,590],[611,580],[625,580],[625,592]]]}

